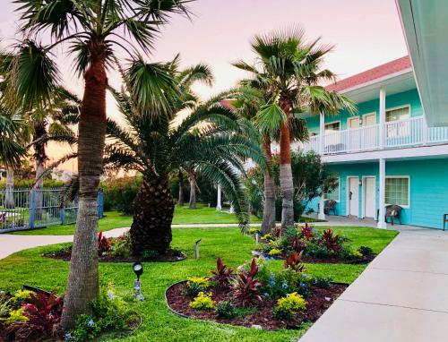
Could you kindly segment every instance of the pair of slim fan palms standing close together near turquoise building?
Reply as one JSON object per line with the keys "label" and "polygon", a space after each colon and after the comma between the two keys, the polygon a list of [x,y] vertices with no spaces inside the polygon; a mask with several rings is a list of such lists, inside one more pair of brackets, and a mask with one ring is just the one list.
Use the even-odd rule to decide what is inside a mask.
{"label": "pair of slim fan palms standing close together near turquoise building", "polygon": [[[280,191],[282,197],[281,227],[294,225],[294,184],[291,171],[291,141],[306,141],[308,133],[304,113],[350,113],[356,106],[349,98],[325,90],[324,82],[336,76],[323,69],[323,59],[332,47],[308,42],[300,27],[257,35],[251,42],[256,56],[254,64],[239,61],[238,69],[250,73],[240,81],[241,89],[234,102],[242,115],[253,120],[263,139],[261,144],[271,161],[271,142],[280,145]],[[270,170],[264,172],[263,233],[275,227],[275,184]]]}

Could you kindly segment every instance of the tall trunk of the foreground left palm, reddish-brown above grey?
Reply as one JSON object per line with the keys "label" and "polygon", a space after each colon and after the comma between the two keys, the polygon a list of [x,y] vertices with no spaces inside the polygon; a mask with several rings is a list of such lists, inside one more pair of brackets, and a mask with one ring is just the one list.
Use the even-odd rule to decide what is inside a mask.
{"label": "tall trunk of the foreground left palm, reddish-brown above grey", "polygon": [[90,302],[99,295],[97,195],[106,136],[108,77],[104,43],[98,44],[90,51],[90,66],[84,73],[78,141],[79,209],[61,320],[64,329],[73,328],[78,315],[90,312]]}

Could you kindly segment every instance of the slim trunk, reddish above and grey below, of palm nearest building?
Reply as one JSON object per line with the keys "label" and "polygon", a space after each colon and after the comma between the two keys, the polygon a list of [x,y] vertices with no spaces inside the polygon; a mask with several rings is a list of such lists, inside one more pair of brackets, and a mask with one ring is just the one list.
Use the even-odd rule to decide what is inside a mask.
{"label": "slim trunk, reddish above and grey below, of palm nearest building", "polygon": [[285,112],[287,120],[280,126],[280,192],[281,202],[281,229],[294,226],[294,184],[291,170],[291,141],[289,137],[289,112],[288,99],[280,98],[280,107]]}

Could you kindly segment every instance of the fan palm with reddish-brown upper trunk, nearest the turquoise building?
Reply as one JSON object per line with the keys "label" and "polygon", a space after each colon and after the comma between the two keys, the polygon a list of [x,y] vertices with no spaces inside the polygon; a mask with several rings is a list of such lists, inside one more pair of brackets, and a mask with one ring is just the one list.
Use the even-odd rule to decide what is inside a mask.
{"label": "fan palm with reddish-brown upper trunk, nearest the turquoise building", "polygon": [[293,27],[257,35],[251,42],[256,63],[235,63],[237,68],[252,73],[261,82],[269,105],[258,113],[258,120],[265,129],[279,130],[280,141],[280,191],[282,195],[281,226],[294,225],[294,185],[290,156],[290,123],[293,113],[325,109],[337,113],[341,108],[354,111],[349,98],[325,90],[320,84],[335,79],[334,73],[322,68],[323,57],[332,47],[318,45],[319,38],[306,42],[304,30]]}

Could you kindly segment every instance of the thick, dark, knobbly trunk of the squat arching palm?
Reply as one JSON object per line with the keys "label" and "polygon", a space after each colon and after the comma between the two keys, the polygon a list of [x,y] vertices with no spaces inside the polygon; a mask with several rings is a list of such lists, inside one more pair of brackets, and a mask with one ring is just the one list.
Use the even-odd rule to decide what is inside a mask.
{"label": "thick, dark, knobbly trunk of the squat arching palm", "polygon": [[142,255],[144,251],[161,254],[168,251],[174,207],[168,177],[143,179],[135,197],[130,230],[134,255]]}

